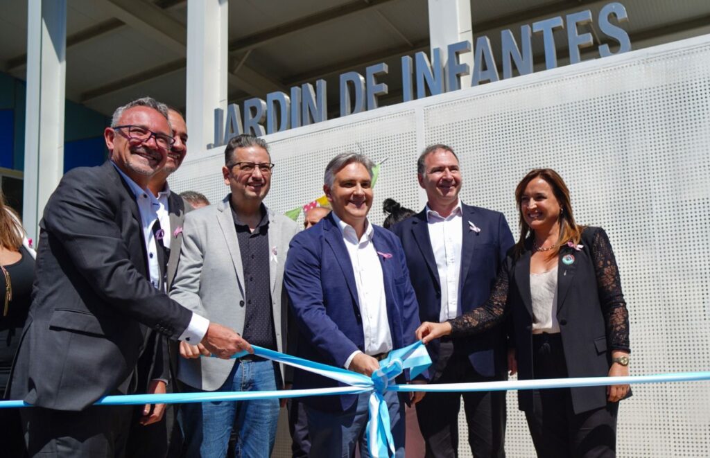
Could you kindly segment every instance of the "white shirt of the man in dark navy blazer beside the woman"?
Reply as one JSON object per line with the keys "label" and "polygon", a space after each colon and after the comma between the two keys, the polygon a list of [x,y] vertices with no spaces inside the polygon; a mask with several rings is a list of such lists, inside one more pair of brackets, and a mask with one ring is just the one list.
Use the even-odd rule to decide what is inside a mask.
{"label": "white shirt of the man in dark navy blazer beside the woman", "polygon": [[461,220],[461,200],[454,210],[444,218],[427,205],[427,227],[429,240],[434,250],[434,259],[439,272],[439,288],[442,291],[439,321],[461,315],[459,307],[459,277],[461,276],[461,243],[463,221]]}

